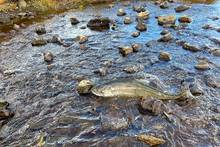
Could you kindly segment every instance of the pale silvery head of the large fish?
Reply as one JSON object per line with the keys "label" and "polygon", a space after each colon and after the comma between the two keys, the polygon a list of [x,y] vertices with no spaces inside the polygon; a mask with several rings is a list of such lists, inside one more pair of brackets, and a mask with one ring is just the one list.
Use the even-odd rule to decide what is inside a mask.
{"label": "pale silvery head of the large fish", "polygon": [[92,88],[92,93],[99,97],[112,97],[114,93],[112,91],[112,87],[109,85],[107,86],[97,86]]}

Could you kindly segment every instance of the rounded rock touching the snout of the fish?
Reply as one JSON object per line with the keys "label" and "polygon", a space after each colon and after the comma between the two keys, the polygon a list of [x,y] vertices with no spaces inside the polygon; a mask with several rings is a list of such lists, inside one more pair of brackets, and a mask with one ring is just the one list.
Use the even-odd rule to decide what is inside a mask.
{"label": "rounded rock touching the snout of the fish", "polygon": [[93,83],[90,80],[82,80],[76,87],[77,92],[82,94],[90,93],[90,89],[93,87]]}

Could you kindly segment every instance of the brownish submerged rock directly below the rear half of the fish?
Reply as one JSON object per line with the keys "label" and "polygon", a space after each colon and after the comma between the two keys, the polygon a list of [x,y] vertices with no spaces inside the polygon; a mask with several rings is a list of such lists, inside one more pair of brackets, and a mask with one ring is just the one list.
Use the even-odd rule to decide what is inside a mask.
{"label": "brownish submerged rock directly below the rear half of the fish", "polygon": [[161,100],[155,98],[142,98],[140,100],[140,106],[143,114],[148,112],[153,115],[162,114],[166,108]]}

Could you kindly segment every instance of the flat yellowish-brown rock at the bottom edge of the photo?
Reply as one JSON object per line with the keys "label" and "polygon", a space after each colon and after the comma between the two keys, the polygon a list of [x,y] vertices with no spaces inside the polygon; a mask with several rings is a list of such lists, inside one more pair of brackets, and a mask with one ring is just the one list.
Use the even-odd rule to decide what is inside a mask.
{"label": "flat yellowish-brown rock at the bottom edge of the photo", "polygon": [[144,134],[138,135],[137,139],[150,146],[158,146],[158,145],[162,145],[166,143],[166,141],[162,138],[158,138],[158,137],[151,136],[151,135],[144,135]]}

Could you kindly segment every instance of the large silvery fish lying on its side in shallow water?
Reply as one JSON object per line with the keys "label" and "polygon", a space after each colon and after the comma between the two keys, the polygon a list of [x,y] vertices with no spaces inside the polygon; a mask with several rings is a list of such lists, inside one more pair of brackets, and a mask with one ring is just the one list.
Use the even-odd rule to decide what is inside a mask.
{"label": "large silvery fish lying on its side in shallow water", "polygon": [[178,94],[170,94],[151,87],[143,79],[119,79],[94,86],[92,94],[104,98],[147,98],[160,100],[176,100],[191,97],[188,89],[183,89]]}

